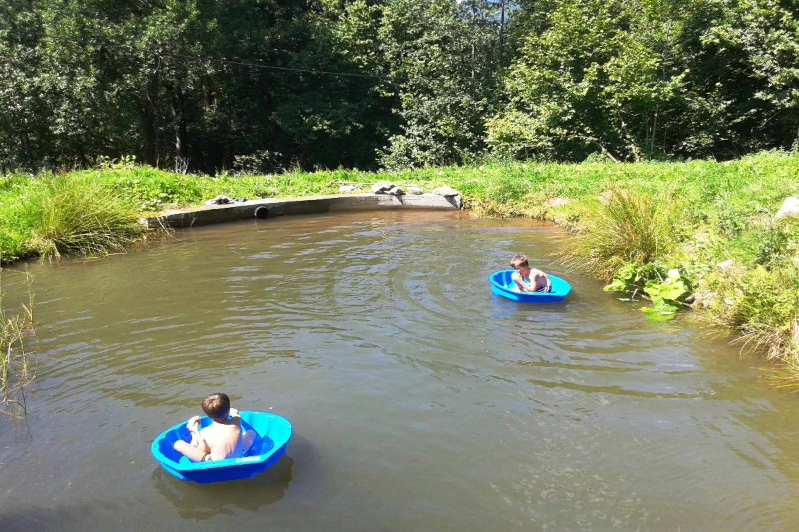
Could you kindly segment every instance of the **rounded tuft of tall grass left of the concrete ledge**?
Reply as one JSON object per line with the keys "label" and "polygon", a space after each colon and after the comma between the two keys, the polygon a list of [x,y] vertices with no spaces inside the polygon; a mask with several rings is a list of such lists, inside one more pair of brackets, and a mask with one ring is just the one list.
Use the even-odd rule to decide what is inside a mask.
{"label": "rounded tuft of tall grass left of the concrete ledge", "polygon": [[54,177],[26,201],[28,246],[42,258],[62,252],[87,256],[122,250],[147,228],[136,208],[90,177]]}

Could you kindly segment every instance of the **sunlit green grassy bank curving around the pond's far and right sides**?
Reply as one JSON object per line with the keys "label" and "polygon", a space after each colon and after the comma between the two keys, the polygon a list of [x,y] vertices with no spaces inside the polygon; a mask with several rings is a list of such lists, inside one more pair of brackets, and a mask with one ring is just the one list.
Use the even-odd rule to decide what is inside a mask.
{"label": "sunlit green grassy bank curving around the pond's far and right sides", "polygon": [[217,177],[123,163],[8,176],[0,181],[0,248],[6,260],[98,254],[139,238],[141,213],[217,194],[303,196],[382,180],[425,190],[450,185],[473,212],[574,228],[564,263],[605,280],[609,291],[655,317],[698,309],[694,316],[781,361],[785,383],[799,383],[799,222],[773,216],[785,197],[799,193],[799,155],[792,153],[721,163],[508,163]]}

